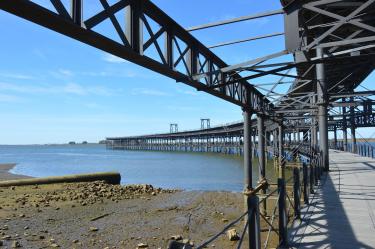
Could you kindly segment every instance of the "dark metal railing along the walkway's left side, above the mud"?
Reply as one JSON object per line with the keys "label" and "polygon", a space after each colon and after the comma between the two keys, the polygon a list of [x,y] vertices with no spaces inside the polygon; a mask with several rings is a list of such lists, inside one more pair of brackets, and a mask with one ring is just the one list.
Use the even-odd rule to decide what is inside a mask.
{"label": "dark metal railing along the walkway's left side, above the mud", "polygon": [[[284,156],[282,163],[285,162],[285,166],[292,169],[292,176],[288,179],[278,178],[277,183],[269,183],[263,179],[254,189],[245,191],[244,195],[249,197],[247,198],[249,202],[248,210],[195,248],[202,249],[207,247],[242,220],[244,220],[245,225],[240,231],[236,244],[237,249],[242,248],[249,231],[256,233],[251,236],[256,238],[256,241],[249,241],[250,248],[266,249],[269,246],[288,245],[288,227],[296,219],[301,219],[301,208],[303,205],[309,205],[310,195],[314,193],[314,188],[323,172],[323,161],[319,150],[307,148],[303,143],[290,147],[290,149],[289,152],[297,160],[286,162],[286,157]],[[298,159],[300,156],[308,157],[308,160],[301,162]],[[277,161],[277,157],[275,160]],[[259,194],[261,190],[266,191]],[[271,203],[271,201],[273,201],[274,206],[271,208],[270,215],[267,215],[267,202]],[[261,210],[260,206],[262,206]],[[261,229],[260,221],[263,221],[262,225],[266,227]],[[253,224],[249,226],[249,223]],[[253,229],[248,230],[249,227]],[[264,241],[260,241],[262,232],[265,232],[265,234],[262,234]],[[278,237],[278,245],[270,245],[273,236]]]}

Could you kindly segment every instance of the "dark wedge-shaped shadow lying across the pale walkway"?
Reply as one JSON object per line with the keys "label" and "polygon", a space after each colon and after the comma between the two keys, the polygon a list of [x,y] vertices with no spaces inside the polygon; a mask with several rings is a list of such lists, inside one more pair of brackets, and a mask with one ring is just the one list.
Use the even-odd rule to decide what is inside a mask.
{"label": "dark wedge-shaped shadow lying across the pale walkway", "polygon": [[[340,198],[340,172],[330,172],[322,177],[311,204],[303,210],[300,223],[294,224],[291,230],[292,248],[332,248],[332,249],[374,249],[370,245],[358,241],[353,227],[345,213]],[[337,181],[336,188],[334,181]],[[357,197],[358,186],[353,192],[345,189],[345,197]],[[348,191],[349,190],[349,191]],[[375,235],[373,235],[375,236]],[[373,245],[375,246],[375,245]]]}

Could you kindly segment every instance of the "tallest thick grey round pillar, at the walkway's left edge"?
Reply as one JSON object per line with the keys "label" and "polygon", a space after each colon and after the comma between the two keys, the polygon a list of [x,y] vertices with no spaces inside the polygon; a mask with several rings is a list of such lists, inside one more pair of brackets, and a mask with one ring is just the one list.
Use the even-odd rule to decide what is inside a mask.
{"label": "tallest thick grey round pillar, at the walkway's left edge", "polygon": [[[323,49],[316,49],[317,57],[323,58]],[[328,154],[328,119],[327,119],[327,84],[325,81],[325,68],[323,63],[316,64],[317,95],[318,95],[318,122],[319,122],[319,145],[323,156],[323,167],[329,171]]]}

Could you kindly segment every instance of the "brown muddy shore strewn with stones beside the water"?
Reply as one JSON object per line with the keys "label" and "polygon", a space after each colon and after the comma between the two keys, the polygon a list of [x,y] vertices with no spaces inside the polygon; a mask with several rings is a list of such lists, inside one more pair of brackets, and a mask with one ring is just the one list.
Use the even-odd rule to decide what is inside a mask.
{"label": "brown muddy shore strewn with stones beside the water", "polygon": [[[0,179],[22,177],[4,172],[11,168],[2,165]],[[172,238],[199,245],[242,213],[243,196],[232,192],[103,182],[4,187],[0,248],[165,249]],[[235,228],[240,232],[242,226]],[[230,249],[236,243],[224,234],[209,247]]]}

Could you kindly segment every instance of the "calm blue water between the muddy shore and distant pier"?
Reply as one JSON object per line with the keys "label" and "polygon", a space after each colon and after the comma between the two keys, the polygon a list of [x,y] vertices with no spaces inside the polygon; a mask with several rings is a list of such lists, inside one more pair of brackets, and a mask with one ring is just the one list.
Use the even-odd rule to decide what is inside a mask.
{"label": "calm blue water between the muddy shore and distant pier", "polygon": [[[0,163],[17,163],[12,173],[33,177],[118,171],[122,184],[185,190],[243,188],[242,157],[214,153],[113,151],[104,145],[17,145],[0,146]],[[256,160],[254,164],[257,181]],[[269,161],[269,175],[274,174],[272,165]]]}

